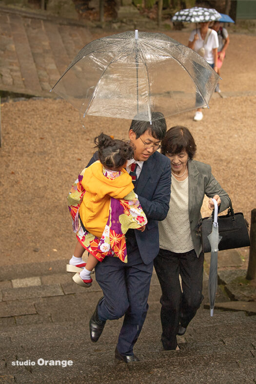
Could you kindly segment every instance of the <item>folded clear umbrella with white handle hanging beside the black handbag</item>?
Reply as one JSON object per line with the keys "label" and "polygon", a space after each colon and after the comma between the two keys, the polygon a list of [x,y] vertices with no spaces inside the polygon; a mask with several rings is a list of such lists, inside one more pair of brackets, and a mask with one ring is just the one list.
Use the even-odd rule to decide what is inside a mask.
{"label": "folded clear umbrella with white handle hanging beside the black handbag", "polygon": [[213,316],[214,305],[215,305],[215,295],[217,292],[217,267],[218,267],[218,243],[220,242],[222,236],[218,234],[218,205],[215,199],[212,199],[214,202],[214,222],[213,230],[207,236],[211,244],[211,263],[209,271],[209,282],[208,282],[208,293],[210,301],[210,315]]}

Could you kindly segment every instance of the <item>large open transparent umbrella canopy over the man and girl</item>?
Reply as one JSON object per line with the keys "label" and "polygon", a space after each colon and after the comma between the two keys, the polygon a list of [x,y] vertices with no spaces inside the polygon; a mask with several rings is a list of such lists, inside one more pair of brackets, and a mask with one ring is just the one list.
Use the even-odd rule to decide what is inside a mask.
{"label": "large open transparent umbrella canopy over the man and girl", "polygon": [[152,112],[166,117],[208,105],[218,79],[187,46],[161,33],[137,31],[87,44],[52,90],[83,117],[139,115],[139,120],[152,121]]}

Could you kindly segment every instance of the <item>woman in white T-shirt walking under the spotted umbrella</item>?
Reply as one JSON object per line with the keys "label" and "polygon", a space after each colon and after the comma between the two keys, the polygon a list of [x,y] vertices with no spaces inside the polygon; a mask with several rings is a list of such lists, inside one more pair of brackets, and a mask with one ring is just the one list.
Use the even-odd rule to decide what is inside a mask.
{"label": "woman in white T-shirt walking under the spotted umbrella", "polygon": [[[199,23],[199,30],[194,29],[191,32],[188,42],[188,47],[198,52],[199,49],[204,47],[203,58],[211,65],[211,67],[217,72],[217,48],[218,48],[218,36],[217,32],[213,29],[209,29],[210,22]],[[207,36],[208,34],[208,36]],[[205,38],[207,41],[205,43]],[[201,102],[201,97],[197,95],[197,105]],[[194,116],[195,121],[202,120],[203,114],[202,109],[197,108],[196,115]]]}

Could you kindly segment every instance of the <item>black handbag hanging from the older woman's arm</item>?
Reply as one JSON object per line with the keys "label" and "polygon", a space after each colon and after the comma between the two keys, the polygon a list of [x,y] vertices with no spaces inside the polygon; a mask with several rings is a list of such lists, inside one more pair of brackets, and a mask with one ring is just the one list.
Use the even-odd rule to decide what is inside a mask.
{"label": "black handbag hanging from the older woman's arm", "polygon": [[[228,213],[218,216],[218,232],[222,236],[218,244],[218,250],[230,250],[232,248],[248,247],[250,245],[249,223],[242,212],[234,213],[231,200]],[[202,218],[198,223],[197,235],[201,236],[203,252],[211,252],[208,235],[213,230],[214,211],[211,216]]]}

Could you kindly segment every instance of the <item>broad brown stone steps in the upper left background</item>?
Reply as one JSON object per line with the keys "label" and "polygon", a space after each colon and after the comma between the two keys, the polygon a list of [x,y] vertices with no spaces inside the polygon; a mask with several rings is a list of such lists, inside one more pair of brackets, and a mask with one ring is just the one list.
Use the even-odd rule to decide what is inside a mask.
{"label": "broad brown stone steps in the upper left background", "polygon": [[85,26],[29,18],[0,9],[0,90],[51,97],[50,89],[92,40]]}

